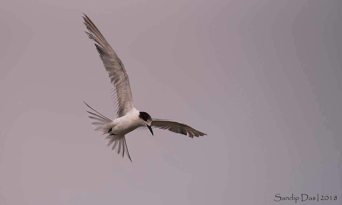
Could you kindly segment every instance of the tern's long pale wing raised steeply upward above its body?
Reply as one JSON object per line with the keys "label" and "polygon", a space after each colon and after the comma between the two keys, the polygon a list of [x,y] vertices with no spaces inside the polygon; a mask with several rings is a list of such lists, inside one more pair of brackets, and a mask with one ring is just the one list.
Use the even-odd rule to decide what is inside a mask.
{"label": "tern's long pale wing raised steeply upward above its body", "polygon": [[[84,14],[84,13],[83,13]],[[113,84],[113,99],[117,106],[117,117],[122,117],[132,108],[134,108],[131,86],[129,84],[128,74],[124,68],[120,58],[111,48],[100,30],[84,14],[84,25],[86,25],[89,32],[86,32],[88,37],[94,40],[97,52],[105,66],[110,82]],[[116,95],[116,96],[115,96]]]}

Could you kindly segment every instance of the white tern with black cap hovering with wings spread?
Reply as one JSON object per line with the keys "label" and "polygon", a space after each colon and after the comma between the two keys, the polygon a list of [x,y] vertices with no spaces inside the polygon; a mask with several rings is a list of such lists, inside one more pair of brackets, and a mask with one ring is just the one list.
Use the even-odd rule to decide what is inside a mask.
{"label": "white tern with black cap hovering with wings spread", "polygon": [[95,130],[107,134],[105,138],[109,140],[107,146],[114,143],[112,150],[118,146],[118,154],[122,153],[123,157],[126,153],[132,162],[127,149],[125,135],[135,129],[148,128],[152,135],[152,127],[168,129],[171,132],[188,135],[191,138],[194,136],[199,137],[206,135],[181,122],[175,120],[152,119],[147,112],[141,112],[135,109],[128,74],[122,61],[106,41],[100,30],[98,30],[86,14],[84,14],[83,20],[84,25],[86,25],[89,31],[86,31],[86,33],[91,40],[96,42],[95,46],[97,52],[100,54],[103,65],[108,72],[110,82],[113,84],[112,97],[114,104],[117,107],[117,118],[115,120],[105,117],[83,101],[91,109],[91,111],[87,112],[90,115],[89,119],[96,127]]}

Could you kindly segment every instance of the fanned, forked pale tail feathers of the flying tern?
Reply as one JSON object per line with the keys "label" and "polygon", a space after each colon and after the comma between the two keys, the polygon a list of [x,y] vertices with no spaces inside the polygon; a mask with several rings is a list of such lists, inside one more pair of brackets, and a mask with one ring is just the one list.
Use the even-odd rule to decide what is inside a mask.
{"label": "fanned, forked pale tail feathers of the flying tern", "polygon": [[[84,101],[83,101],[84,102]],[[95,126],[95,130],[99,130],[103,132],[104,134],[108,134],[106,132],[106,127],[108,126],[107,124],[112,122],[109,118],[105,117],[104,115],[100,114],[96,110],[94,110],[92,107],[90,107],[86,102],[84,102],[93,112],[87,111],[89,113],[89,119],[92,121],[92,125]],[[128,158],[131,160],[131,156],[129,155],[128,149],[127,149],[127,144],[126,144],[126,138],[124,135],[110,135],[108,134],[106,138],[104,139],[109,139],[109,142],[107,146],[111,145],[114,143],[113,148],[111,150],[114,150],[116,147],[118,150],[118,154],[122,151],[122,157],[126,153]],[[119,146],[118,146],[119,145]],[[131,160],[132,162],[132,160]]]}

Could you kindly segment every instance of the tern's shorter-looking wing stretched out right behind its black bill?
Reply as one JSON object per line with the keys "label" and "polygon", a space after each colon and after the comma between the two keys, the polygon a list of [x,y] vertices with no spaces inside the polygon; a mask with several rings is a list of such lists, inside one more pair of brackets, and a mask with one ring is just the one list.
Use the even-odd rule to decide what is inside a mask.
{"label": "tern's shorter-looking wing stretched out right behind its black bill", "polygon": [[181,122],[175,120],[161,120],[161,119],[152,119],[151,127],[157,127],[160,129],[168,129],[174,133],[180,133],[183,135],[189,135],[189,137],[194,138],[194,136],[204,136],[207,135],[205,133],[199,132],[198,130],[183,124]]}

